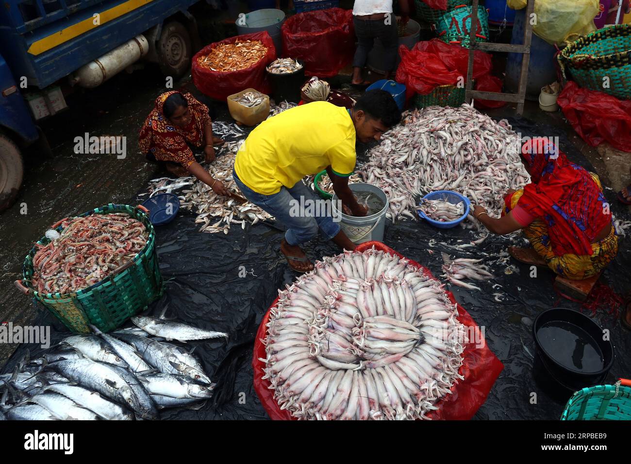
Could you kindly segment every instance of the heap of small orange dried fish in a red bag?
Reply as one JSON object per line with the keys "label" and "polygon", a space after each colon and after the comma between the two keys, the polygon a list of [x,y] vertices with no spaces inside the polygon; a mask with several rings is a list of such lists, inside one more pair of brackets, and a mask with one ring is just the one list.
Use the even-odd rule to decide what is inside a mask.
{"label": "heap of small orange dried fish in a red bag", "polygon": [[198,64],[211,71],[239,71],[256,64],[267,52],[260,40],[219,44],[208,55],[200,56]]}

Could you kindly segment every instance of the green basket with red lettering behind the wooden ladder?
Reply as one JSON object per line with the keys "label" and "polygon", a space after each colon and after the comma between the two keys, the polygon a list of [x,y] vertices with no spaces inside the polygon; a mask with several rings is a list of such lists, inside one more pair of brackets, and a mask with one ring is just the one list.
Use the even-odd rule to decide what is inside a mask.
{"label": "green basket with red lettering behind the wooden ladder", "polygon": [[[457,6],[441,15],[436,23],[440,40],[469,48],[472,11],[473,6]],[[476,31],[476,42],[488,42],[488,11],[483,6],[478,6],[478,23],[480,28]]]}

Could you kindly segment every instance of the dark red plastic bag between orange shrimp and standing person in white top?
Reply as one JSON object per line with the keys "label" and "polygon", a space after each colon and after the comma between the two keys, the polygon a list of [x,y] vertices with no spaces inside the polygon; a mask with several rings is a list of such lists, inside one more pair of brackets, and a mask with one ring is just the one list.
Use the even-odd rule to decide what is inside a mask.
{"label": "dark red plastic bag between orange shrimp and standing person in white top", "polygon": [[353,11],[329,8],[288,18],[283,27],[283,56],[301,59],[307,76],[333,77],[353,59]]}

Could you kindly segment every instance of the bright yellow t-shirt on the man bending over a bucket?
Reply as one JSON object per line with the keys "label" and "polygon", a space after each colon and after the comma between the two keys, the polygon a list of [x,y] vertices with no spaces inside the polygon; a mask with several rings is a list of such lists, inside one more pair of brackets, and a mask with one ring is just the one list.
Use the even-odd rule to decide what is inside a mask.
{"label": "bright yellow t-shirt on the man bending over a bucket", "polygon": [[305,175],[331,166],[338,175],[355,169],[355,126],[343,107],[311,102],[262,122],[237,152],[235,171],[257,193],[278,193]]}

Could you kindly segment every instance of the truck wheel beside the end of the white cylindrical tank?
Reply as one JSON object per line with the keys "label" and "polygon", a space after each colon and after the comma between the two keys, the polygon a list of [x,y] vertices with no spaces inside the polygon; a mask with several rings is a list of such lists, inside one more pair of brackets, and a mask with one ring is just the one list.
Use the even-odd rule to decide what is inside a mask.
{"label": "truck wheel beside the end of the white cylindrical tank", "polygon": [[192,58],[191,34],[178,21],[171,21],[162,28],[156,47],[158,64],[165,76],[179,79],[191,66]]}

